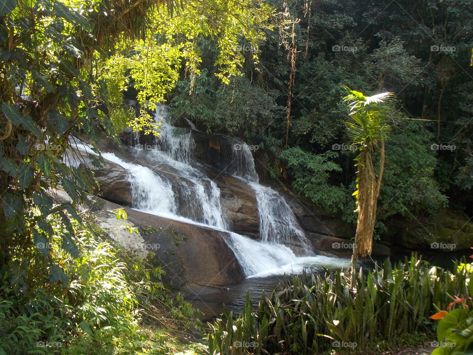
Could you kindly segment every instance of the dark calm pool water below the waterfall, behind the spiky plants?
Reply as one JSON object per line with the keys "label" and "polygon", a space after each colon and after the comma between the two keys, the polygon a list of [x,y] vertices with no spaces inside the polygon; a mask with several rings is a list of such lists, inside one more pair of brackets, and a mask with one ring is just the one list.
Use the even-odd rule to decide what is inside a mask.
{"label": "dark calm pool water below the waterfall, behind the spiky plants", "polygon": [[[449,252],[439,254],[422,252],[418,253],[418,256],[429,262],[431,265],[436,265],[444,269],[451,270],[454,266],[455,260],[460,260],[466,256],[467,262],[472,260],[468,256],[473,253],[472,250],[463,250],[458,252]],[[411,252],[407,250],[398,251],[396,254],[390,256],[390,260],[394,263],[397,261],[404,261],[405,257],[410,257]],[[372,269],[377,263],[382,265],[386,258],[377,257],[370,259],[363,259],[360,261],[360,266]],[[322,270],[314,270],[315,272],[322,272]],[[250,278],[245,279],[241,283],[236,285],[227,286],[224,290],[219,290],[214,293],[191,295],[186,299],[190,301],[195,308],[198,308],[203,312],[202,320],[211,320],[217,316],[220,316],[225,306],[228,310],[234,312],[234,316],[242,312],[245,304],[246,292],[249,293],[249,297],[253,302],[253,306],[257,306],[261,300],[263,292],[266,295],[270,295],[275,287],[283,282],[283,275],[267,276],[262,278]]]}

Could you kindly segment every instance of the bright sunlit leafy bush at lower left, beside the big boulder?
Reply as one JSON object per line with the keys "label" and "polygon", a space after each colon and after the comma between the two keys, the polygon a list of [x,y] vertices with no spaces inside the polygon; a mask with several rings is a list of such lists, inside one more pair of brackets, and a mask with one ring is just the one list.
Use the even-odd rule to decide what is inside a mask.
{"label": "bright sunlit leafy bush at lower left, beside the big boulder", "polygon": [[[173,301],[161,282],[151,281],[160,278],[159,268],[113,246],[94,220],[82,219],[69,226],[76,257],[61,246],[66,227],[57,216],[48,221],[54,235],[47,244],[11,253],[0,286],[0,355],[69,354],[84,344],[91,348],[87,354],[113,354],[140,339],[139,322],[148,314],[158,323],[170,314],[174,324],[198,325],[182,298]],[[39,250],[47,250],[47,259]]]}

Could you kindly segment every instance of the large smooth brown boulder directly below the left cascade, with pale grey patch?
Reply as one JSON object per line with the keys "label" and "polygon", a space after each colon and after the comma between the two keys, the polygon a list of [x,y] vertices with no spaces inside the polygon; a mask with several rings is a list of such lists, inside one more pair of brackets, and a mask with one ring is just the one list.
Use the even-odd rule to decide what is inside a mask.
{"label": "large smooth brown boulder directly below the left cascade, with pale grey patch", "polygon": [[225,243],[228,233],[125,208],[127,220],[118,224],[131,223],[140,231],[131,234],[120,231],[107,212],[120,207],[108,201],[102,204],[98,213],[102,227],[124,247],[154,253],[153,264],[166,272],[165,282],[193,293],[244,279],[234,252]]}

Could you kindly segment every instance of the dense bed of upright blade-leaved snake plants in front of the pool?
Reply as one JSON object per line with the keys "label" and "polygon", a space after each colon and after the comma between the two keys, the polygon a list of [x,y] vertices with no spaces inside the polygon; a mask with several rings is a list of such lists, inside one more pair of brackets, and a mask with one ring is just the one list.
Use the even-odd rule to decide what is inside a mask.
{"label": "dense bed of upright blade-leaved snake plants in front of the pool", "polygon": [[[453,273],[417,260],[385,261],[351,279],[339,271],[285,278],[257,310],[248,295],[243,313],[211,325],[210,354],[320,354],[334,346],[357,351],[402,334],[431,330],[428,317],[467,294],[470,272]],[[427,328],[426,328],[427,324]]]}

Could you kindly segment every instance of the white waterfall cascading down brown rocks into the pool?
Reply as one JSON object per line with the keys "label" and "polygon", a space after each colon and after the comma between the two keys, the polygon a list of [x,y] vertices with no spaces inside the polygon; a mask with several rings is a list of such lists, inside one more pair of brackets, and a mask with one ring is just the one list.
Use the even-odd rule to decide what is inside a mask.
{"label": "white waterfall cascading down brown rocks into the pool", "polygon": [[166,114],[166,106],[159,106],[155,121],[160,122],[160,135],[154,144],[130,148],[134,163],[102,153],[128,171],[134,209],[222,231],[246,277],[298,273],[313,265],[342,266],[346,260],[313,256],[294,213],[277,191],[259,184],[250,148],[238,141],[232,146],[231,170],[255,191],[261,240],[228,230],[220,189],[193,158],[192,131],[173,127]]}

